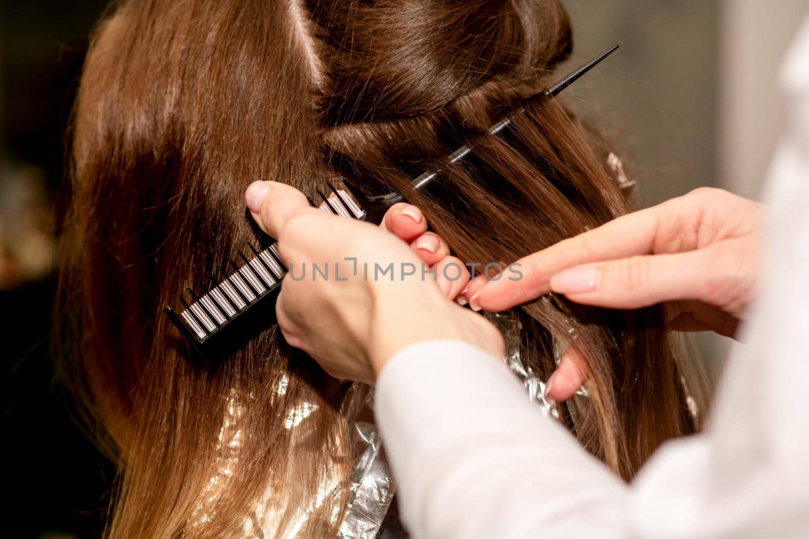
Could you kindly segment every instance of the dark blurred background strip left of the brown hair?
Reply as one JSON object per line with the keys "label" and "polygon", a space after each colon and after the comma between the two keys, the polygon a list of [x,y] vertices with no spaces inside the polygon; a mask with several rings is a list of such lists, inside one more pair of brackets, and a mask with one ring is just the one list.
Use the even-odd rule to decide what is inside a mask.
{"label": "dark blurred background strip left of the brown hair", "polygon": [[49,354],[54,200],[88,33],[107,2],[0,7],[5,537],[99,537],[114,468],[71,419]]}

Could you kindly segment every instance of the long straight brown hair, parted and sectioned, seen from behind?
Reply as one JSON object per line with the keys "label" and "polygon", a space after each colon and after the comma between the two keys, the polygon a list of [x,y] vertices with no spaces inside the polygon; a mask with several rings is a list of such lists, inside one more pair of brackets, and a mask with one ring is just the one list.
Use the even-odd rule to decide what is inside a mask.
{"label": "long straight brown hair, parted and sectioned, seen from behind", "polygon": [[[70,148],[57,352],[120,462],[112,537],[332,537],[348,499],[345,383],[274,326],[221,364],[189,360],[162,313],[260,232],[256,179],[336,172],[403,192],[462,259],[509,263],[628,211],[559,104],[485,128],[572,48],[557,0],[129,0],[95,30]],[[408,179],[461,141],[438,187]],[[590,398],[562,421],[625,478],[692,432],[662,311],[553,297],[519,309],[541,376],[574,331]],[[301,406],[305,406],[304,409]],[[306,428],[289,428],[305,417]],[[324,490],[324,485],[329,486]],[[327,493],[324,495],[324,492]],[[304,516],[302,528],[294,528]]]}

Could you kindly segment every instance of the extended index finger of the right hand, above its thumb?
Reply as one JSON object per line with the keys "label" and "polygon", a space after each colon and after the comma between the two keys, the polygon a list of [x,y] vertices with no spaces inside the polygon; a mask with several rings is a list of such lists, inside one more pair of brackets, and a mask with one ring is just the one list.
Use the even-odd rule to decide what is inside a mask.
{"label": "extended index finger of the right hand, above its thumb", "polygon": [[628,213],[524,256],[510,266],[519,270],[519,279],[485,283],[474,297],[473,305],[489,311],[510,309],[549,293],[551,276],[568,267],[650,254],[658,234],[659,213],[658,207]]}

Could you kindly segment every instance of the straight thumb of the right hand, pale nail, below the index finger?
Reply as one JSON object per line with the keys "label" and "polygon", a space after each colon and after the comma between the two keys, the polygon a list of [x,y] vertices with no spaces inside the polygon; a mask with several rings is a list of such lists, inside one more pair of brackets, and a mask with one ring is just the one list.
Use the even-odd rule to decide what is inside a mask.
{"label": "straight thumb of the right hand, pale nail, below the index finger", "polygon": [[711,302],[710,283],[723,282],[726,264],[709,249],[672,255],[638,255],[574,266],[553,275],[550,288],[571,301],[638,309],[671,300]]}

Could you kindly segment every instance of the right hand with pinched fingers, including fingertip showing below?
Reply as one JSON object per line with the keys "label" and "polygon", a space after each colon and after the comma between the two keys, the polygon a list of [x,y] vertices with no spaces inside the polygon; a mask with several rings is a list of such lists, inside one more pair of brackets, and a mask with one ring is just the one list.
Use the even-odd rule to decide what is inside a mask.
{"label": "right hand with pinched fingers, including fingertip showing below", "polygon": [[[473,309],[499,311],[543,294],[616,309],[664,303],[676,331],[734,336],[756,298],[762,206],[701,187],[618,217],[519,259],[519,281],[478,276],[464,297]],[[586,376],[575,345],[545,384],[556,401]]]}

